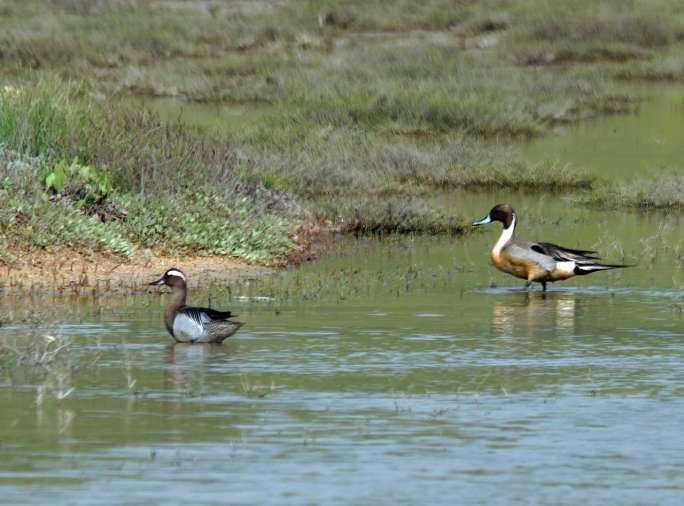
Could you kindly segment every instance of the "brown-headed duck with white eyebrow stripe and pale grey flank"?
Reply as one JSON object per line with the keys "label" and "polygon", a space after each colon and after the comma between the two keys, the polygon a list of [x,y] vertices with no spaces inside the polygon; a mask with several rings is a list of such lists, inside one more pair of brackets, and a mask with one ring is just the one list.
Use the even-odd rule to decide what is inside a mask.
{"label": "brown-headed duck with white eyebrow stripe and pale grey flank", "polygon": [[164,323],[176,342],[220,344],[243,325],[230,319],[235,316],[230,311],[186,306],[187,277],[176,267],[167,270],[150,285],[171,287],[171,300],[164,311]]}

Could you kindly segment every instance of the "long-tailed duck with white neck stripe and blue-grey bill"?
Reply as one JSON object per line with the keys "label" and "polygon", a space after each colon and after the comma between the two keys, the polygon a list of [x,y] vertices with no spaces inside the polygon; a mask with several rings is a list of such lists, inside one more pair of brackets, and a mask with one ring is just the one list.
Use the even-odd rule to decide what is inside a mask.
{"label": "long-tailed duck with white neck stripe and blue-grey bill", "polygon": [[492,248],[492,263],[500,271],[532,282],[546,283],[561,281],[574,276],[583,276],[596,271],[629,267],[620,264],[604,264],[595,251],[564,248],[550,242],[533,242],[514,239],[516,216],[508,204],[498,204],[489,214],[473,225],[484,225],[493,221],[503,223],[503,232]]}

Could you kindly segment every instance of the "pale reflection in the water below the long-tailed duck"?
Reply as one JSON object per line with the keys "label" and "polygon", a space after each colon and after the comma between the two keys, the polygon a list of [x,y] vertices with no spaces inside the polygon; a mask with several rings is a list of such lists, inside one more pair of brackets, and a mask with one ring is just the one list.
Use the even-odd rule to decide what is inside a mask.
{"label": "pale reflection in the water below the long-tailed duck", "polygon": [[572,293],[518,292],[492,306],[493,336],[574,335],[578,301]]}

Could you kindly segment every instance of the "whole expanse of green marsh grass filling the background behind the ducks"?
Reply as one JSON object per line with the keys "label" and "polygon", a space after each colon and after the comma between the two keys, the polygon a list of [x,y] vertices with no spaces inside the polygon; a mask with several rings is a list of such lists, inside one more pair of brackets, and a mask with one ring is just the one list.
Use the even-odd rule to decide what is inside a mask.
{"label": "whole expanse of green marsh grass filling the background behind the ducks", "polygon": [[[590,175],[505,146],[631,110],[611,79],[678,79],[684,41],[673,0],[628,12],[617,0],[1,8],[4,259],[69,245],[279,262],[302,224],[321,222],[464,233],[431,195],[590,188]],[[216,104],[222,126],[164,120],[136,96]],[[97,210],[40,188],[37,173],[74,160],[112,182]]]}

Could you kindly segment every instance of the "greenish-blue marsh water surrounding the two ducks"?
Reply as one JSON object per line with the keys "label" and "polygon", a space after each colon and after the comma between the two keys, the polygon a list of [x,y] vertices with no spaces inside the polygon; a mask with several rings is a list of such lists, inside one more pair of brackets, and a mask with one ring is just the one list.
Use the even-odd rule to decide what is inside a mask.
{"label": "greenish-blue marsh water surrounding the two ducks", "polygon": [[[588,129],[636,131],[642,118],[650,131],[654,109],[674,136],[677,97],[527,156],[598,164],[583,150],[611,135]],[[656,167],[652,154],[634,149],[630,170]],[[606,160],[592,168],[614,176]],[[337,238],[301,268],[190,293],[247,322],[220,347],[171,345],[156,293],[0,299],[6,346],[68,345],[45,370],[0,369],[3,502],[679,504],[682,216],[436,198],[473,219],[510,202],[521,237],[638,266],[528,293],[489,265],[498,225],[465,239]],[[35,324],[34,310],[59,323]]]}

